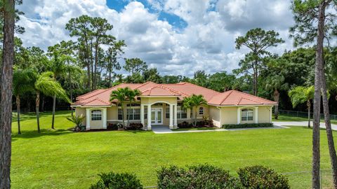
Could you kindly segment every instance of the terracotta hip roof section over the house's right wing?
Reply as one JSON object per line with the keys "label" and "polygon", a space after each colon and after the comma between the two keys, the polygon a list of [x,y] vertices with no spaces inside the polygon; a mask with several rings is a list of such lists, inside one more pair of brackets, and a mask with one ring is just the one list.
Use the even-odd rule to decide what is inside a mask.
{"label": "terracotta hip roof section over the house's right wing", "polygon": [[275,105],[276,102],[270,101],[268,99],[263,99],[256,97],[251,94],[244,92],[239,92],[237,90],[229,90],[218,94],[208,101],[209,104],[214,104],[218,106],[239,106],[239,105]]}

